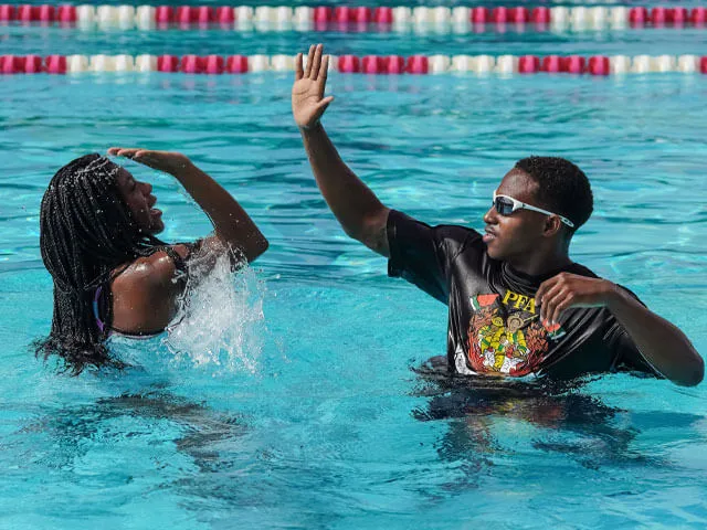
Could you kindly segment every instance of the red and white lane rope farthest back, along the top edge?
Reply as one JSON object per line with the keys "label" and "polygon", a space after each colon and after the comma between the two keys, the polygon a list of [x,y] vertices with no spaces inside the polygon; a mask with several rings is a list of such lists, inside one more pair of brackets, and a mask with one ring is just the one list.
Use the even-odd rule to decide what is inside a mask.
{"label": "red and white lane rope farthest back, along the top edge", "polygon": [[103,30],[222,28],[240,31],[481,32],[532,24],[546,30],[707,28],[707,7],[257,7],[0,4],[0,22],[40,22]]}

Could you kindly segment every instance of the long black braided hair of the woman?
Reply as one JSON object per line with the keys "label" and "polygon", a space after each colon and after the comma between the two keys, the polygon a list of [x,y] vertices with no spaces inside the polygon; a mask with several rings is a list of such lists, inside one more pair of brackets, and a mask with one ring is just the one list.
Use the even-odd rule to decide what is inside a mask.
{"label": "long black braided hair of the woman", "polygon": [[49,337],[33,347],[44,360],[59,356],[74,375],[85,368],[123,367],[104,343],[113,304],[107,303],[102,330],[93,296],[98,287],[110,293],[116,267],[165,245],[131,219],[118,191],[119,170],[101,155],[86,155],[61,168],[42,198],[40,248],[54,282],[54,314]]}

